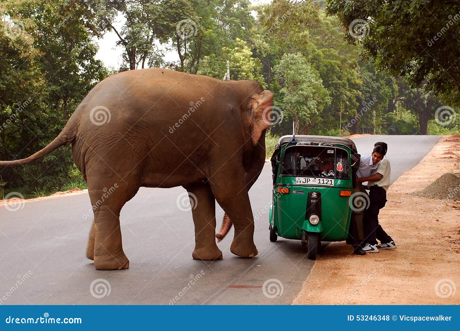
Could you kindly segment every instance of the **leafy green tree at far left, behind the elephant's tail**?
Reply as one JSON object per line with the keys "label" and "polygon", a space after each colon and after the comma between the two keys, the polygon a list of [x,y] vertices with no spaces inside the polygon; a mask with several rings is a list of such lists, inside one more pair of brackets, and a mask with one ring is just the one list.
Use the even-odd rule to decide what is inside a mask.
{"label": "leafy green tree at far left, behind the elephant's tail", "polygon": [[[21,37],[1,38],[0,66],[6,69],[1,71],[13,73],[3,83],[11,90],[2,94],[7,100],[2,119],[16,114],[17,103],[22,103],[11,124],[1,132],[4,144],[0,159],[11,160],[27,157],[51,142],[107,71],[101,61],[94,59],[97,47],[92,37],[98,34],[98,26],[94,16],[88,14],[89,2],[11,1],[2,10],[4,17],[18,22],[29,42],[27,46]],[[66,148],[40,162],[8,167],[2,178],[8,188],[28,184],[32,189],[51,190],[75,178],[76,173],[70,149]]]}

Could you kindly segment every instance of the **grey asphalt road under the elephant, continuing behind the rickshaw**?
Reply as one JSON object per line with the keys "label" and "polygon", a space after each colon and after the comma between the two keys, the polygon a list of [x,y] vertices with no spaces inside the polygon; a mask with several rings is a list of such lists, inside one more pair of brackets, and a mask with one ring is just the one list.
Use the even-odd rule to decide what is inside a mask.
{"label": "grey asphalt road under the elephant, continuing behind the rickshaw", "polygon": [[[439,138],[362,136],[355,142],[361,154],[378,140],[388,143],[393,182]],[[299,241],[268,239],[270,164],[250,192],[259,249],[253,259],[230,253],[231,230],[219,243],[224,260],[192,260],[192,214],[176,205],[184,191],[141,188],[125,205],[121,230],[130,269],[118,272],[97,271],[85,258],[92,222],[87,194],[27,202],[14,212],[0,207],[0,304],[290,304],[314,262]],[[217,207],[219,226],[223,211]],[[282,284],[274,298],[262,288],[270,279]],[[267,283],[268,296],[276,286]]]}

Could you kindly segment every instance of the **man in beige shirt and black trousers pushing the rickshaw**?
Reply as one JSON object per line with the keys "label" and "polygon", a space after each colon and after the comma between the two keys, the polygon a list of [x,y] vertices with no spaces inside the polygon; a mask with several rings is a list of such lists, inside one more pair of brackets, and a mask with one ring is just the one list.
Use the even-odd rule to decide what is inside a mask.
{"label": "man in beige shirt and black trousers pushing the rickshaw", "polygon": [[[385,142],[377,142],[374,146],[386,154],[387,145]],[[358,178],[360,182],[368,182],[369,187],[369,207],[364,211],[363,228],[364,242],[366,245],[362,248],[366,253],[378,253],[379,249],[394,249],[396,244],[379,224],[380,209],[385,207],[386,191],[390,186],[391,165],[386,158],[382,159],[373,175],[369,177]],[[377,239],[380,245],[377,245]]]}

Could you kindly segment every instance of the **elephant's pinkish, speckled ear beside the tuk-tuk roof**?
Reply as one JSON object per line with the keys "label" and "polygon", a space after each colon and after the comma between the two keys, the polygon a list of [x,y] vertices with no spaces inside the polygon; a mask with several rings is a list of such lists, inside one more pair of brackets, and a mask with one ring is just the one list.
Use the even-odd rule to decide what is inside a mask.
{"label": "elephant's pinkish, speckled ear beside the tuk-tuk roof", "polygon": [[260,94],[251,96],[251,98],[251,136],[253,145],[257,146],[262,132],[272,125],[270,114],[273,105],[273,93],[265,90]]}

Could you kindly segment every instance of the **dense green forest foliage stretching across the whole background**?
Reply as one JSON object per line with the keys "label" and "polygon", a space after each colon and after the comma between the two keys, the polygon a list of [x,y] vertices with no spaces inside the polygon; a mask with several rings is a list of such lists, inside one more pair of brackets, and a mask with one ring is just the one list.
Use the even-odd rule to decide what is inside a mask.
{"label": "dense green forest foliage stretching across the whole background", "polygon": [[[275,93],[268,148],[293,121],[331,136],[460,130],[455,1],[5,0],[0,15],[0,160],[45,147],[104,77],[165,67],[223,79],[227,61],[230,79]],[[108,31],[120,68],[95,58]],[[5,194],[84,186],[69,147],[0,169]]]}

